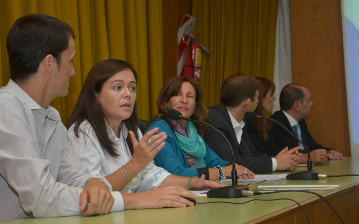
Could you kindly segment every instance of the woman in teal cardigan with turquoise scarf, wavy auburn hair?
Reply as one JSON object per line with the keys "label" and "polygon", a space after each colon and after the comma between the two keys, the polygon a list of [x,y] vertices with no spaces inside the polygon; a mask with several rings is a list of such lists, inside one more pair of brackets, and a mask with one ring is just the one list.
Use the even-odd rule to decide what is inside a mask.
{"label": "woman in teal cardigan with turquoise scarf, wavy auburn hair", "polygon": [[[206,126],[166,117],[169,109],[175,109],[185,118],[206,121],[208,111],[202,98],[202,90],[194,80],[185,76],[172,78],[157,97],[159,115],[146,131],[159,128],[158,133],[165,132],[168,136],[165,146],[154,158],[157,166],[180,176],[205,175],[206,180],[221,180],[231,176],[232,166],[204,142],[202,136],[206,133]],[[239,178],[254,177],[254,173],[243,166],[236,164],[236,169]]]}

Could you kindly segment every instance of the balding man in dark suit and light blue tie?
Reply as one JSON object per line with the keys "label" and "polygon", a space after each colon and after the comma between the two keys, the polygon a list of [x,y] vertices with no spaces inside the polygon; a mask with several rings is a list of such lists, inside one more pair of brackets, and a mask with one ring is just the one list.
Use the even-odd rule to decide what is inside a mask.
{"label": "balding man in dark suit and light blue tie", "polygon": [[[280,93],[279,103],[281,110],[276,111],[271,118],[278,121],[289,131],[297,135],[299,139],[311,151],[311,159],[313,163],[325,163],[327,159],[342,159],[341,153],[331,148],[326,148],[318,144],[308,131],[308,127],[304,118],[311,114],[313,102],[309,90],[298,84],[288,84],[283,87]],[[300,146],[300,152],[305,153],[304,147],[292,135],[286,133],[279,125],[273,125],[273,136],[278,147]],[[306,162],[308,154],[304,154],[300,158],[300,162]]]}

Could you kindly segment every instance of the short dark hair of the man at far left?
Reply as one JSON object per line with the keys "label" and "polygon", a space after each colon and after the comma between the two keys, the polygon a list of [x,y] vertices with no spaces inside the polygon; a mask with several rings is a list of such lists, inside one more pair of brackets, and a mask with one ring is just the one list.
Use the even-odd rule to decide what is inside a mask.
{"label": "short dark hair of the man at far left", "polygon": [[49,15],[30,14],[20,17],[11,27],[6,47],[11,79],[25,81],[36,73],[40,62],[52,54],[60,69],[61,55],[75,39],[73,29]]}

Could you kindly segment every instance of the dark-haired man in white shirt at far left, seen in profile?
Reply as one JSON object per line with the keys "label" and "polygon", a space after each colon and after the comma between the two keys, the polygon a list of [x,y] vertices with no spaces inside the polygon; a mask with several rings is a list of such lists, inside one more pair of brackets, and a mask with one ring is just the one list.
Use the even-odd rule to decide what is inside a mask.
{"label": "dark-haired man in white shirt at far left, seen in profile", "polygon": [[[19,18],[7,39],[11,79],[0,88],[0,222],[107,214],[111,185],[81,165],[58,111],[75,75],[74,32],[48,15]],[[123,209],[119,192],[114,209]]]}

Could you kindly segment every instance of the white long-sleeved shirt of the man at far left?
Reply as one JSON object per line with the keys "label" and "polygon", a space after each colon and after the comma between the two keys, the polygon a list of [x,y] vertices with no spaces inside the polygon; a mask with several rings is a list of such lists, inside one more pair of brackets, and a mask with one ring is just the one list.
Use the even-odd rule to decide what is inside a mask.
{"label": "white long-sleeved shirt of the man at far left", "polygon": [[[0,222],[81,215],[79,195],[93,175],[76,156],[59,112],[41,108],[11,79],[0,88],[0,108]],[[121,194],[114,196],[112,209],[123,210]]]}

